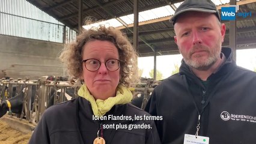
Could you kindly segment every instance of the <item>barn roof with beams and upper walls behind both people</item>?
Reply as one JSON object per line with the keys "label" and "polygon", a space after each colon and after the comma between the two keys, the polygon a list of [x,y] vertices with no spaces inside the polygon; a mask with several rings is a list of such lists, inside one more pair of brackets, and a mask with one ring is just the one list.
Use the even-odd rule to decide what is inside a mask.
{"label": "barn roof with beams and upper walls behind both people", "polygon": [[[174,29],[169,19],[181,2],[183,1],[3,0],[0,26],[2,41],[0,77],[37,79],[38,76],[45,75],[66,75],[62,64],[58,61],[58,53],[66,43],[75,39],[75,35],[82,28],[84,18],[88,16],[97,20],[114,20],[120,23],[117,28],[127,34],[139,56],[154,56],[152,65],[156,65],[156,56],[179,53],[174,43]],[[256,1],[215,0],[213,2],[220,12],[222,7],[238,5],[240,13],[247,13],[246,16],[237,16],[236,20],[222,20],[222,23],[227,25],[222,46],[237,50],[254,49]],[[35,11],[32,7],[41,10],[44,14]],[[149,14],[153,17],[148,17]]]}

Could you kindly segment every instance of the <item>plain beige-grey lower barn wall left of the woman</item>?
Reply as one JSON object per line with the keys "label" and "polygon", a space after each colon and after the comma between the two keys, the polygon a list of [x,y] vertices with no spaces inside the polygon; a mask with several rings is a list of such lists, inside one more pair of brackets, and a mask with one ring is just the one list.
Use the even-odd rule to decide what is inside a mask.
{"label": "plain beige-grey lower barn wall left of the woman", "polygon": [[64,76],[58,60],[63,47],[61,43],[0,35],[0,78]]}

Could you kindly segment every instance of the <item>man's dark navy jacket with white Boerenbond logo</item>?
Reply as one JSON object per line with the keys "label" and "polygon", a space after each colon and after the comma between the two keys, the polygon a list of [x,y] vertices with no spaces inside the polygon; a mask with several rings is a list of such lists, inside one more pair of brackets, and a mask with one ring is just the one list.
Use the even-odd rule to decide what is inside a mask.
{"label": "man's dark navy jacket with white Boerenbond logo", "polygon": [[238,67],[230,48],[222,48],[226,61],[206,82],[188,65],[163,80],[153,91],[146,111],[163,116],[156,121],[162,143],[183,143],[184,134],[197,131],[210,144],[256,143],[256,73]]}

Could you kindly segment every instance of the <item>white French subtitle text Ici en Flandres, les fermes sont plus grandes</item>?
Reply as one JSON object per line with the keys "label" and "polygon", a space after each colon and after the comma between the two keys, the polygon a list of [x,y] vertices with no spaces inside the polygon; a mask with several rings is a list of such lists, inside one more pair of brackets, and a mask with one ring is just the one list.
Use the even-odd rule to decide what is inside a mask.
{"label": "white French subtitle text Ici en Flandres, les fermes sont plus grandes", "polygon": [[[94,116],[93,120],[97,121],[162,121],[163,116],[148,116],[148,115],[134,115],[134,116],[115,116],[115,115],[106,115],[106,116]],[[152,128],[150,124],[122,124],[122,123],[112,123],[112,124],[103,124],[103,129],[150,129]]]}

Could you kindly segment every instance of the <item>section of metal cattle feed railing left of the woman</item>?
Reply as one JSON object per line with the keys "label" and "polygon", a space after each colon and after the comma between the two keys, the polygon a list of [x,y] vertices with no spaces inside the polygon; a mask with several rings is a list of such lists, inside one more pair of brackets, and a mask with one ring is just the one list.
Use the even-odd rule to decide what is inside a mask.
{"label": "section of metal cattle feed railing left of the woman", "polygon": [[[13,88],[16,88],[16,91]],[[10,100],[10,98],[14,98],[13,95],[16,97],[23,91],[22,113],[17,117],[25,118],[29,122],[33,122],[32,119],[35,119],[34,122],[37,123],[44,110],[49,107],[50,98],[53,94],[53,104],[67,101],[65,97],[67,88],[71,88],[69,83],[60,82],[57,79],[54,81],[46,80],[45,78],[38,80],[2,79],[0,80],[0,100],[1,103],[5,100]],[[76,98],[76,89],[74,90],[75,97],[73,98]],[[60,90],[59,94],[58,90]],[[35,114],[33,115],[33,113]]]}

